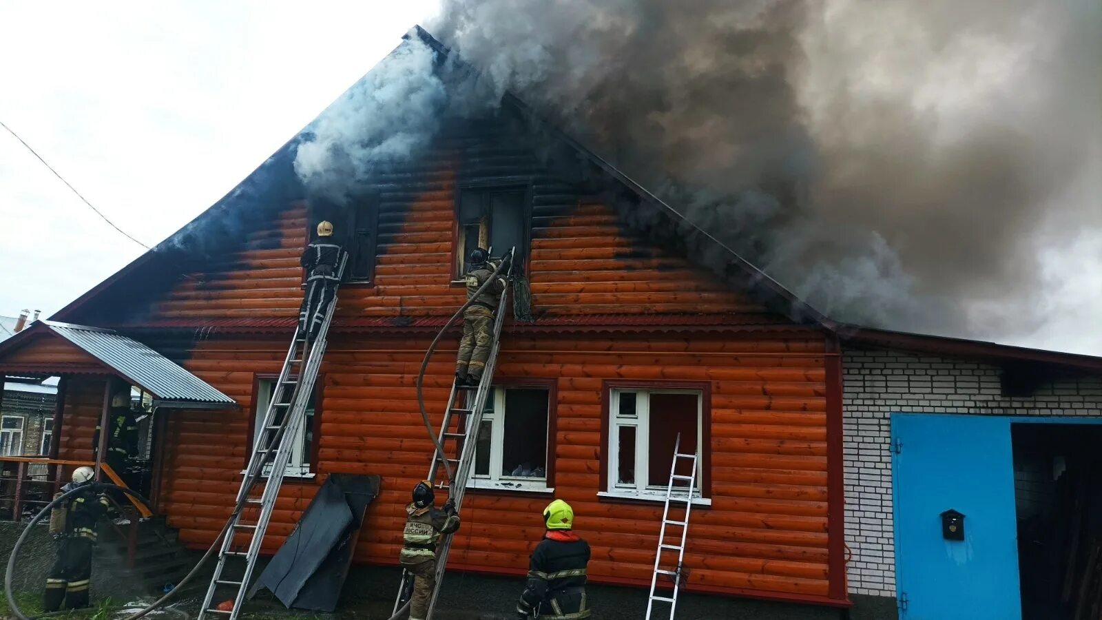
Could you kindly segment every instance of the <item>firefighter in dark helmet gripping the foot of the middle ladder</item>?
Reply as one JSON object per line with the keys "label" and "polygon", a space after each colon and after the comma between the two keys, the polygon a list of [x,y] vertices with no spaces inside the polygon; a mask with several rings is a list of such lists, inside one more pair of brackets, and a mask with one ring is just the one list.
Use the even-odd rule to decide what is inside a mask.
{"label": "firefighter in dark helmet gripping the foot of the middle ladder", "polygon": [[460,528],[455,501],[449,498],[444,510],[436,510],[435,499],[432,482],[422,480],[413,488],[413,503],[406,506],[404,544],[398,559],[413,578],[410,620],[424,620],[429,613],[429,599],[436,584],[436,543],[442,535]]}

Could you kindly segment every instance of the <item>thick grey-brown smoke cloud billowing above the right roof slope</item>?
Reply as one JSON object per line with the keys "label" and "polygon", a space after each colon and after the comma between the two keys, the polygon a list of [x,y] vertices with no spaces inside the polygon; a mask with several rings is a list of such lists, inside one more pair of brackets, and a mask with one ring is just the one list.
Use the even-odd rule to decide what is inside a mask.
{"label": "thick grey-brown smoke cloud billowing above the right roof slope", "polygon": [[1102,226],[1096,0],[446,0],[429,30],[841,319],[1039,321]]}

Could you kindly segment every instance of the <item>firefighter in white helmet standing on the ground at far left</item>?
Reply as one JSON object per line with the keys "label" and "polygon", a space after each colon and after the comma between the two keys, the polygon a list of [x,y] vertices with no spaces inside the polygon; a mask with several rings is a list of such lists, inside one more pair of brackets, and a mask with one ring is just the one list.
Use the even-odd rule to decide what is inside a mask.
{"label": "firefighter in white helmet standing on the ground at far left", "polygon": [[62,492],[79,488],[85,491],[57,504],[50,513],[50,533],[57,541],[57,557],[46,577],[42,600],[47,612],[61,609],[63,601],[69,609],[88,607],[96,522],[110,505],[104,494],[96,493],[90,487],[93,475],[95,472],[90,467],[76,468],[73,482],[63,487]]}

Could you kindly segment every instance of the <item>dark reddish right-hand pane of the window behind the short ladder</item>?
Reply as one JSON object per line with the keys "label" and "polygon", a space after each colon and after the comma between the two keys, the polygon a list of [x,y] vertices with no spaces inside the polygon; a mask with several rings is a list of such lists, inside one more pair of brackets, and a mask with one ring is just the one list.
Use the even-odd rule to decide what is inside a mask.
{"label": "dark reddish right-hand pane of the window behind the short ladder", "polygon": [[[696,451],[696,407],[700,396],[696,394],[651,394],[650,395],[650,428],[647,453],[649,471],[647,484],[665,487],[670,481],[670,464],[673,462],[673,445],[678,434],[681,434],[682,455]],[[692,473],[688,460],[678,467],[679,475]],[[688,480],[674,481],[676,484],[688,485]]]}

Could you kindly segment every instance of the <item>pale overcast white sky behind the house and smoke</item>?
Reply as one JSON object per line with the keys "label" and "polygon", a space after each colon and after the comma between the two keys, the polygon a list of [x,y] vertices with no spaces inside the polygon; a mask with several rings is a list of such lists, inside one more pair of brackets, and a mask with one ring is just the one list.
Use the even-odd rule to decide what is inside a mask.
{"label": "pale overcast white sky behind the house and smoke", "polygon": [[[153,245],[436,10],[434,0],[0,3],[0,120]],[[2,130],[0,229],[0,316],[48,316],[144,252]],[[1003,342],[1102,355],[1102,237],[1087,233],[1042,257],[1050,277],[1038,300],[1051,320]]]}

